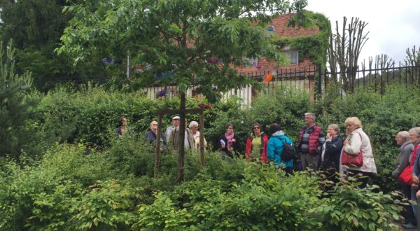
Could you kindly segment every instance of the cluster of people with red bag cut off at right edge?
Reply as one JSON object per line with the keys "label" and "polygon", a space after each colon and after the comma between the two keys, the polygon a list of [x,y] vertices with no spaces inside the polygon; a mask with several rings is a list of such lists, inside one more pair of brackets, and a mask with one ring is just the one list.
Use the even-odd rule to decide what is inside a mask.
{"label": "cluster of people with red bag cut off at right edge", "polygon": [[[399,189],[408,199],[416,201],[420,197],[420,127],[413,127],[408,132],[398,132],[395,136],[400,153],[395,161],[395,169],[391,173],[397,179]],[[405,207],[405,228],[416,228],[417,205]]]}

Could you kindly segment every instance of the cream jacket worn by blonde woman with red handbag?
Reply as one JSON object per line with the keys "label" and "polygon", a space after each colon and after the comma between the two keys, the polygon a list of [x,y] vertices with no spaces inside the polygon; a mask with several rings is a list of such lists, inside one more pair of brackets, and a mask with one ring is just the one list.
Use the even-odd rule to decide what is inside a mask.
{"label": "cream jacket worn by blonde woman with red handbag", "polygon": [[[351,132],[349,136],[350,136],[349,145],[343,147],[344,151],[346,151],[349,154],[356,155],[359,153],[360,146],[361,146],[362,154],[363,154],[363,166],[349,167],[346,165],[342,165],[343,169],[377,173],[376,165],[374,164],[372,146],[370,145],[370,139],[369,137],[367,137],[367,134],[363,132],[361,128],[358,128],[354,130],[353,132]],[[340,165],[341,165],[341,158],[340,158]]]}

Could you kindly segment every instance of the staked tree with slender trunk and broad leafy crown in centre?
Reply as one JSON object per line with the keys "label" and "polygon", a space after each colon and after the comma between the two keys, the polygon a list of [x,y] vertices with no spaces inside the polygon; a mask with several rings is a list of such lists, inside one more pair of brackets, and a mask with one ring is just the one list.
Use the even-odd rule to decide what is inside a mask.
{"label": "staked tree with slender trunk and broad leafy crown in centre", "polygon": [[[128,54],[132,63],[151,67],[140,76],[148,83],[176,83],[180,109],[185,109],[190,85],[215,101],[218,92],[248,84],[246,76],[232,68],[243,64],[244,57],[286,62],[265,26],[271,16],[287,10],[296,11],[297,22],[304,22],[300,12],[306,5],[306,0],[83,1],[64,8],[74,17],[64,30],[59,53],[74,55],[76,62],[104,51],[118,59]],[[185,114],[180,116],[183,121]],[[181,123],[181,137],[184,127]]]}

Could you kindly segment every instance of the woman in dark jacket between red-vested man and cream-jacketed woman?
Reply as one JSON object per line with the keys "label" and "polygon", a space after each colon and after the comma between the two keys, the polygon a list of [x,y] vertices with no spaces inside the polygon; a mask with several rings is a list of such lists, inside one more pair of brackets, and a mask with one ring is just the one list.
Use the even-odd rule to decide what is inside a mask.
{"label": "woman in dark jacket between red-vested man and cream-jacketed woman", "polygon": [[318,159],[318,169],[325,171],[328,174],[328,178],[339,171],[339,157],[343,147],[343,140],[338,134],[338,125],[332,124],[328,126],[325,142],[321,146],[321,155]]}

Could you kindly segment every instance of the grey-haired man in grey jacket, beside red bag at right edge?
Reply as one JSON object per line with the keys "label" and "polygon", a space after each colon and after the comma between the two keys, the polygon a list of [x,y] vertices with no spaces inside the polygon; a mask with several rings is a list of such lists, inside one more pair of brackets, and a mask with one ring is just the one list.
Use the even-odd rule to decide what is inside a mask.
{"label": "grey-haired man in grey jacket, beside red bag at right edge", "polygon": [[[407,131],[398,132],[395,136],[397,145],[400,146],[400,153],[398,153],[397,160],[395,161],[395,170],[392,172],[392,177],[398,179],[401,172],[409,165],[409,156],[414,150],[414,144],[409,140],[409,133]],[[398,182],[398,188],[402,190],[406,198],[411,197],[411,186]],[[411,224],[416,224],[416,218],[414,217],[413,210],[410,206],[404,208],[403,214],[405,221],[409,221]]]}

